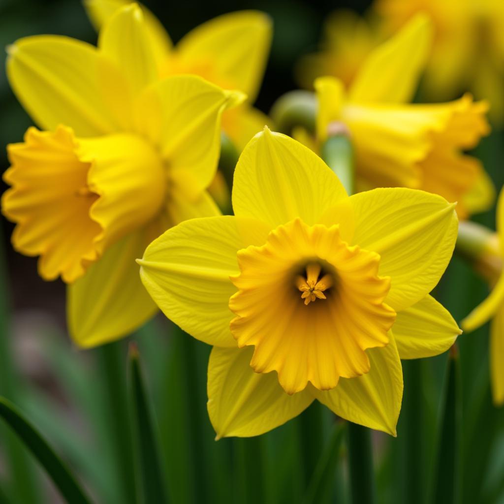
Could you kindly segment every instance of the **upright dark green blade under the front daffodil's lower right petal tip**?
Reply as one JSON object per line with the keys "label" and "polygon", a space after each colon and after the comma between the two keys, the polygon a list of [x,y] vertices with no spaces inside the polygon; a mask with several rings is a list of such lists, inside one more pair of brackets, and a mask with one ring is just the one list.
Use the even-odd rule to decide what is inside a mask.
{"label": "upright dark green blade under the front daffodil's lower right petal tip", "polygon": [[461,428],[460,366],[456,347],[448,359],[444,407],[439,429],[437,464],[434,472],[433,504],[458,502],[459,447]]}

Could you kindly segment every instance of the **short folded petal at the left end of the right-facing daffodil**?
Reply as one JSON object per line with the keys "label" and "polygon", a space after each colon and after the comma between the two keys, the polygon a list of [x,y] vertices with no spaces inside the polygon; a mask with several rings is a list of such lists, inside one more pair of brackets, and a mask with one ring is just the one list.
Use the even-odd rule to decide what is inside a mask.
{"label": "short folded petal at the left end of the right-facing daffodil", "polygon": [[320,77],[315,81],[314,87],[319,102],[317,139],[322,143],[327,140],[329,123],[341,119],[345,89],[343,83],[334,77]]}

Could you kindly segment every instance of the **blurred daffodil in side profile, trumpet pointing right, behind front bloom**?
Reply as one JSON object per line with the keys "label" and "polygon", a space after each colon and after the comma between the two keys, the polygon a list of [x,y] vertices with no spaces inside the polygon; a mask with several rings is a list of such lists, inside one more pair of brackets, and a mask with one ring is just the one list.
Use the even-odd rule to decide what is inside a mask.
{"label": "blurred daffodil in side profile, trumpet pointing right, behind front bloom", "polygon": [[407,103],[429,39],[428,19],[418,16],[371,52],[348,90],[333,77],[317,79],[317,141],[326,140],[332,123],[343,123],[353,141],[359,190],[420,188],[459,202],[459,215],[467,217],[487,209],[494,197],[480,161],[462,152],[488,133],[487,105],[469,95],[450,103]]}

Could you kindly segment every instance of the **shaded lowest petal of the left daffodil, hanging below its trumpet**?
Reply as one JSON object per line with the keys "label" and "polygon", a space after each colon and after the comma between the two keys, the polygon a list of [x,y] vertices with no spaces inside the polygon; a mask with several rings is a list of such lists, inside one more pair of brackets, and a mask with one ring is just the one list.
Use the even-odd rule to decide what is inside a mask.
{"label": "shaded lowest petal of the left daffodil, hanging below its trumpet", "polygon": [[157,311],[135,263],[157,232],[146,228],[120,239],[68,286],[68,327],[77,345],[90,348],[127,336]]}

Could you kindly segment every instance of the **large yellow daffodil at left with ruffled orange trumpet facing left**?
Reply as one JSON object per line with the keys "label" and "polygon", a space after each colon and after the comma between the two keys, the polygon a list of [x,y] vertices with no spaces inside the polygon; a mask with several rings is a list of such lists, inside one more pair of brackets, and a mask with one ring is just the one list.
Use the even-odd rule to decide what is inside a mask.
{"label": "large yellow daffodil at left with ruffled orange trumpet facing left", "polygon": [[34,36],[8,49],[11,86],[42,129],[8,147],[4,215],[14,247],[39,256],[45,280],[68,285],[68,324],[81,346],[136,329],[156,311],[135,259],[168,227],[217,215],[222,111],[241,93],[196,76],[157,79],[140,9],[103,26],[98,47]]}

